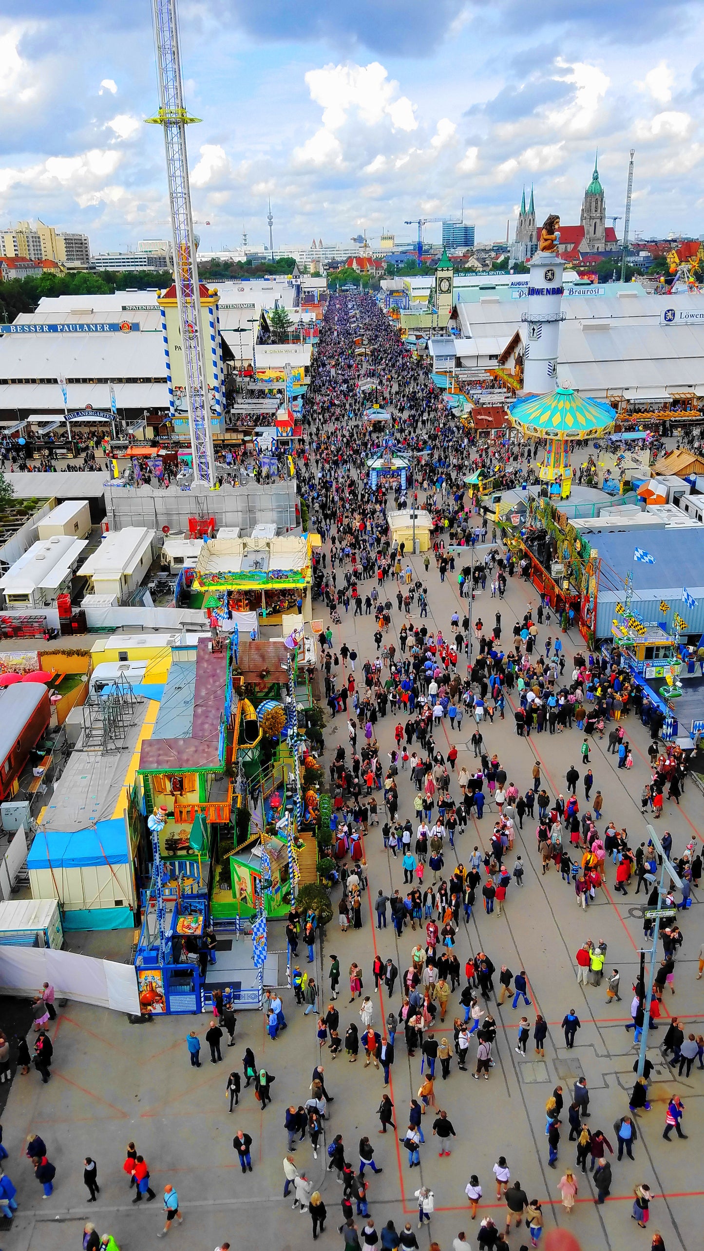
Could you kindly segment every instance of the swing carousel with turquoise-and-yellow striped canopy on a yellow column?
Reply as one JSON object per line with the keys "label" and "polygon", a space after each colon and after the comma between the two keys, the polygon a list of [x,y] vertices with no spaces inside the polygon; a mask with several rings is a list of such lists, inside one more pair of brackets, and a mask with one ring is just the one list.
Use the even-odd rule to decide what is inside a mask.
{"label": "swing carousel with turquoise-and-yellow striped canopy on a yellow column", "polygon": [[519,399],[509,414],[512,425],[526,438],[547,439],[540,478],[559,484],[562,499],[570,494],[572,483],[570,443],[605,434],[616,418],[610,404],[582,398],[566,387],[559,387],[547,395]]}

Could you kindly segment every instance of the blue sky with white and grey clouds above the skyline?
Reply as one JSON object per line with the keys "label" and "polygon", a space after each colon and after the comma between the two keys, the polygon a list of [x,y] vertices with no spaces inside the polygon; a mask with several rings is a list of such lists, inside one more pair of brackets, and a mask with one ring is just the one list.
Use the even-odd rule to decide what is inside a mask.
{"label": "blue sky with white and grey clouds above the skyline", "polygon": [[[610,214],[635,148],[631,234],[704,233],[701,0],[182,0],[180,26],[203,248],[262,243],[268,195],[274,246],[408,239],[462,200],[512,236],[524,183],[576,223],[595,148]],[[5,0],[0,65],[0,225],[162,235],[149,0]]]}

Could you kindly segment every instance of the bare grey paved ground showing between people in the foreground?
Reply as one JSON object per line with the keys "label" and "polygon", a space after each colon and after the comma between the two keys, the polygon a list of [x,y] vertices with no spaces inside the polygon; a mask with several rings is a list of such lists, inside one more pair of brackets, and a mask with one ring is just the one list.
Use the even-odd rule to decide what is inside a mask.
{"label": "bare grey paved ground showing between people in the foreground", "polygon": [[[422,575],[420,558],[415,559],[415,564],[418,575]],[[447,631],[452,608],[458,603],[456,583],[447,580],[441,587],[435,567],[431,565],[428,587],[427,624],[431,629],[440,627]],[[517,578],[509,582],[506,599],[500,605],[505,642],[510,641],[515,615],[522,615],[529,598],[535,605],[537,597],[532,587]],[[475,612],[479,610],[489,624],[494,620],[497,605],[499,602],[490,599],[487,587],[485,594],[475,602]],[[400,617],[395,612],[390,639],[395,638],[398,626]],[[357,617],[353,620],[349,614],[343,619],[342,634],[336,642],[339,643],[342,637],[348,643],[355,639],[361,662],[375,651],[373,629],[373,618]],[[541,642],[546,634],[547,628],[542,627]],[[576,637],[571,646],[564,636],[562,641],[569,673]],[[393,746],[393,727],[395,718],[391,713],[377,727],[383,764],[387,763],[385,753]],[[625,826],[631,846],[638,846],[645,837],[639,797],[644,782],[649,781],[645,754],[648,737],[633,717],[626,721],[626,728],[634,746],[633,771],[616,769],[615,758],[606,754],[606,738],[593,744],[591,766],[594,791],[599,788],[604,794],[605,821],[613,817],[619,827]],[[445,729],[450,732],[450,726]],[[471,749],[467,751],[467,743],[472,729],[474,722],[465,718],[461,734],[450,733],[460,749],[457,767],[463,762],[470,763],[472,753]],[[565,792],[566,769],[572,763],[577,767],[580,764],[581,736],[576,729],[554,737],[532,733],[530,739],[519,739],[509,712],[504,723],[495,722],[482,729],[490,752],[496,751],[507,768],[509,781],[514,781],[522,791],[530,783],[535,757],[541,763],[542,776],[549,782],[551,793]],[[328,753],[334,751],[338,741],[348,747],[344,716],[338,716],[331,723],[326,737]],[[445,737],[441,728],[436,734],[441,749],[447,746]],[[457,793],[456,786],[453,792]],[[407,774],[401,774],[402,818],[412,816],[413,793]],[[584,811],[581,783],[577,797]],[[665,801],[665,816],[658,833],[661,836],[669,828],[674,852],[681,852],[691,836],[699,837],[703,813],[701,794],[689,782],[681,808],[678,809],[674,801]],[[570,1221],[585,1251],[603,1246],[618,1251],[649,1248],[654,1230],[661,1231],[668,1251],[673,1251],[673,1247],[694,1247],[700,1241],[701,1222],[698,1213],[701,1211],[704,1193],[699,1167],[704,1147],[700,1121],[704,1072],[698,1068],[693,1070],[689,1081],[673,1081],[669,1070],[659,1066],[661,1076],[650,1087],[653,1110],[638,1121],[635,1162],[624,1158],[621,1163],[616,1163],[614,1157],[611,1197],[603,1207],[594,1206],[589,1175],[582,1176],[581,1172],[577,1175],[580,1190],[571,1218],[559,1205],[556,1183],[566,1165],[574,1167],[575,1146],[567,1141],[565,1107],[557,1168],[547,1168],[544,1108],[554,1086],[557,1082],[564,1086],[567,1105],[571,1083],[584,1075],[591,1092],[590,1127],[593,1131],[603,1128],[613,1145],[613,1122],[628,1112],[635,1051],[633,1033],[626,1033],[624,1025],[630,1020],[630,986],[638,968],[638,950],[643,934],[640,906],[644,903],[644,894],[641,892],[636,899],[633,886],[628,898],[614,894],[614,869],[610,866],[608,888],[603,897],[586,913],[581,912],[574,889],[554,869],[546,877],[540,876],[535,822],[525,821],[524,827],[522,834],[517,833],[515,848],[522,853],[526,864],[524,889],[511,886],[504,917],[486,917],[481,907],[475,909],[470,923],[460,927],[456,950],[462,967],[467,953],[481,948],[490,955],[497,970],[501,963],[507,963],[514,973],[525,967],[535,1006],[550,1026],[545,1061],[534,1062],[532,1038],[525,1060],[515,1053],[516,1026],[521,1013],[511,1010],[510,1000],[502,1008],[494,1005],[499,1035],[495,1047],[496,1067],[491,1072],[491,1080],[472,1081],[471,1068],[467,1073],[457,1072],[455,1060],[450,1080],[443,1083],[437,1077],[436,1100],[438,1107],[447,1110],[457,1138],[451,1142],[451,1157],[440,1160],[435,1146],[437,1140],[431,1137],[428,1127],[426,1146],[421,1147],[421,1168],[410,1172],[406,1152],[396,1137],[392,1133],[386,1137],[377,1133],[381,1072],[365,1068],[362,1061],[349,1065],[344,1052],[334,1062],[329,1062],[323,1051],[327,1086],[334,1096],[334,1103],[329,1108],[328,1141],[333,1133],[342,1132],[348,1158],[356,1165],[358,1138],[362,1133],[370,1136],[377,1163],[385,1170],[380,1177],[367,1173],[370,1212],[377,1228],[390,1217],[395,1220],[397,1228],[405,1220],[410,1220],[415,1228],[417,1213],[413,1191],[421,1182],[432,1187],[436,1212],[430,1235],[427,1230],[417,1231],[421,1247],[427,1247],[432,1237],[442,1251],[450,1251],[458,1230],[466,1230],[470,1243],[476,1247],[476,1227],[487,1210],[492,1210],[497,1225],[502,1226],[504,1206],[496,1206],[491,1171],[499,1155],[507,1157],[511,1177],[520,1180],[529,1198],[536,1196],[542,1200],[545,1228],[554,1227],[556,1222]],[[475,843],[486,846],[491,828],[492,808],[487,804],[484,821],[479,826],[470,823],[465,834],[456,839],[457,857],[466,862]],[[363,967],[365,987],[375,998],[375,1025],[378,1027],[382,1018],[386,1018],[388,1002],[385,995],[373,995],[371,965],[375,952],[378,951],[382,957],[391,955],[398,968],[403,970],[410,963],[411,947],[416,940],[416,934],[408,928],[400,942],[395,938],[391,924],[381,932],[373,928],[371,899],[380,887],[390,893],[391,888],[402,886],[403,874],[401,858],[390,859],[383,851],[378,827],[372,827],[366,852],[370,899],[365,928],[341,934],[336,913],[322,952],[323,967],[329,963],[329,952],[339,956],[342,983],[337,1006],[341,1011],[341,1036],[351,1020],[358,1023],[358,1005],[348,1007],[348,996],[344,993],[344,975],[352,960]],[[446,864],[450,863],[450,857],[448,849]],[[507,863],[512,866],[512,856],[507,857]],[[699,894],[696,891],[695,897]],[[676,961],[675,995],[670,996],[668,990],[664,1001],[666,1010],[684,1015],[695,1032],[700,1032],[704,1020],[704,981],[701,986],[695,981],[696,955],[701,942],[699,907],[695,902],[691,911],[681,917],[685,942]],[[604,988],[576,987],[575,952],[588,937],[606,940],[608,967],[616,966],[621,972],[621,1003],[606,1007]],[[282,946],[283,927],[281,934],[277,927],[271,927],[269,947]],[[303,958],[304,955],[306,950],[302,947]],[[322,985],[327,992],[329,983],[323,980]],[[457,995],[452,996],[448,1006],[448,1037],[457,1000]],[[323,1011],[327,1003],[328,998],[323,993]],[[398,985],[393,1006],[398,1010]],[[574,1051],[567,1052],[560,1022],[570,1007],[576,1008],[581,1030]],[[184,1225],[170,1232],[170,1243],[188,1247],[189,1251],[212,1251],[223,1240],[228,1240],[233,1247],[248,1245],[276,1247],[277,1251],[308,1247],[308,1215],[292,1212],[291,1201],[287,1206],[282,1198],[282,1160],[286,1155],[283,1116],[289,1102],[298,1105],[308,1096],[311,1072],[318,1058],[317,1017],[313,1013],[304,1017],[302,1008],[294,1008],[292,995],[284,995],[284,1008],[289,1028],[276,1042],[264,1041],[259,1015],[243,1012],[239,1016],[237,1045],[229,1052],[223,1052],[225,1061],[227,1057],[233,1057],[233,1067],[241,1070],[241,1057],[249,1045],[258,1063],[266,1063],[277,1080],[273,1103],[266,1108],[266,1113],[259,1110],[249,1090],[243,1092],[241,1111],[236,1110],[229,1116],[224,1095],[229,1071],[227,1062],[217,1068],[212,1067],[204,1052],[200,1070],[192,1068],[188,1062],[185,1035],[195,1026],[203,1037],[207,1018],[172,1017],[150,1025],[130,1026],[122,1016],[69,1005],[56,1027],[53,1081],[45,1087],[40,1085],[38,1073],[16,1076],[3,1117],[4,1142],[10,1152],[5,1166],[19,1187],[20,1200],[14,1230],[9,1235],[0,1235],[5,1251],[45,1251],[46,1247],[53,1251],[79,1251],[85,1220],[93,1221],[99,1233],[111,1232],[122,1251],[157,1246],[157,1231],[162,1228],[160,1198],[159,1202],[132,1206],[133,1192],[122,1171],[124,1147],[129,1138],[134,1138],[138,1150],[148,1160],[154,1188],[163,1190],[167,1182],[178,1188]],[[532,1027],[534,1012],[527,1015]],[[661,1025],[660,1031],[651,1036],[654,1042],[663,1037],[664,1028]],[[437,1026],[436,1032],[442,1037],[445,1028]],[[420,1052],[408,1061],[401,1033],[397,1043],[391,1093],[397,1123],[402,1130],[407,1123],[405,1116],[408,1101],[420,1085]],[[475,1052],[472,1045],[470,1057]],[[650,1056],[659,1062],[656,1048],[650,1050]],[[666,1143],[661,1137],[665,1106],[668,1097],[675,1091],[683,1096],[686,1107],[684,1131],[689,1135],[689,1141],[673,1138],[671,1143]],[[430,1115],[425,1117],[426,1122],[428,1120],[432,1121]],[[246,1177],[241,1175],[232,1150],[232,1136],[239,1127],[253,1137],[254,1170]],[[49,1157],[58,1170],[55,1192],[48,1201],[41,1200],[41,1188],[34,1180],[31,1166],[23,1158],[23,1141],[30,1130],[45,1138]],[[99,1201],[89,1206],[85,1203],[88,1193],[83,1186],[85,1153],[98,1161],[101,1186]],[[326,1175],[324,1153],[318,1155],[314,1161],[311,1145],[306,1141],[301,1145],[296,1161],[299,1170],[304,1170],[322,1190],[328,1206],[328,1223],[319,1245],[341,1247],[342,1238],[337,1233],[337,1226],[341,1222],[342,1187],[336,1183],[334,1175]],[[470,1220],[465,1198],[465,1185],[472,1172],[479,1173],[485,1196],[476,1222]],[[639,1182],[648,1182],[655,1195],[648,1231],[638,1228],[630,1218],[633,1187]],[[51,1222],[50,1231],[48,1222]],[[358,1218],[360,1235],[363,1223],[363,1218]],[[512,1232],[510,1241],[517,1251],[522,1243],[529,1242],[526,1231]]]}

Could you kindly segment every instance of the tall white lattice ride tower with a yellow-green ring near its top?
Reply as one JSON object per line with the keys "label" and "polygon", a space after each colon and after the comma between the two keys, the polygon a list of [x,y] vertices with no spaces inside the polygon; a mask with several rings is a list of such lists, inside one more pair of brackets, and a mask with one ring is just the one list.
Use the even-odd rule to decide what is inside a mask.
{"label": "tall white lattice ride tower with a yellow-green ring near its top", "polygon": [[147,120],[163,128],[169,183],[169,206],[174,236],[174,283],[177,289],[188,427],[195,482],[212,487],[215,478],[210,403],[205,382],[205,350],[200,322],[200,284],[195,260],[185,128],[199,118],[189,116],[183,103],[180,40],[177,0],[153,0],[154,51],[159,80],[159,111]]}

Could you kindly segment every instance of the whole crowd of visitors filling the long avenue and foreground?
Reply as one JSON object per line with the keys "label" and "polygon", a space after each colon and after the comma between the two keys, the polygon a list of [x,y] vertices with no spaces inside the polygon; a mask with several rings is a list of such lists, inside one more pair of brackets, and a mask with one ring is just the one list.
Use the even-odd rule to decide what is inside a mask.
{"label": "whole crowd of visitors filling the long avenue and foreground", "polygon": [[[466,490],[467,473],[480,469],[506,485],[525,480],[532,447],[482,443],[451,419],[427,365],[410,354],[365,294],[343,291],[331,298],[311,374],[303,403],[306,444],[297,468],[309,528],[323,539],[314,585],[329,613],[329,626],[318,636],[318,657],[329,713],[324,763],[332,799],[334,867],[328,876],[334,913],[324,946],[314,911],[298,912],[293,904],[287,919],[292,1011],[312,1017],[319,1048],[309,1082],[306,1077],[298,1093],[298,1078],[288,1073],[286,1085],[279,1078],[274,1086],[269,1047],[282,1048],[286,1056],[289,1022],[282,996],[273,991],[263,1005],[267,1058],[261,1051],[257,1057],[258,1047],[247,1046],[242,1071],[233,1065],[222,1071],[227,1073],[228,1115],[236,1117],[238,1185],[246,1192],[257,1171],[249,1122],[243,1118],[236,1127],[248,1091],[247,1100],[256,1101],[262,1115],[267,1111],[267,1120],[279,1117],[286,1135],[283,1197],[309,1217],[313,1240],[326,1233],[328,1221],[351,1251],[416,1248],[417,1232],[427,1225],[432,1240],[436,1203],[457,1206],[457,1195],[445,1188],[443,1172],[448,1157],[458,1155],[456,1140],[462,1142],[467,1178],[467,1221],[461,1225],[476,1231],[480,1248],[517,1247],[516,1235],[521,1238],[524,1231],[531,1246],[539,1246],[551,1208],[557,1213],[561,1207],[567,1217],[586,1198],[601,1207],[615,1178],[619,1192],[625,1190],[631,1197],[634,1221],[646,1227],[650,1205],[660,1201],[651,1157],[639,1145],[646,1118],[658,1115],[650,1097],[649,1057],[643,1071],[639,1056],[633,1057],[633,1075],[629,1063],[628,1081],[621,1083],[628,1090],[609,1091],[613,1128],[604,1122],[591,1127],[585,1077],[554,1087],[545,1103],[545,1148],[539,1148],[545,1168],[552,1171],[544,1173],[552,1178],[546,1195],[521,1185],[527,1161],[511,1150],[514,1127],[499,1092],[494,1128],[505,1122],[506,1155],[491,1162],[479,1125],[466,1141],[463,1105],[471,1096],[462,1088],[470,1073],[472,1083],[496,1087],[506,1058],[515,1055],[517,1068],[529,1061],[542,1065],[546,1047],[561,1046],[561,1041],[554,1043],[534,993],[532,957],[517,957],[519,948],[509,946],[507,927],[499,923],[522,911],[530,893],[522,896],[526,876],[534,889],[539,883],[546,899],[565,887],[574,892],[575,929],[584,932],[589,924],[595,934],[589,908],[600,899],[609,902],[611,892],[616,898],[629,894],[635,886],[649,908],[644,941],[658,932],[653,995],[643,975],[633,983],[621,977],[600,936],[580,941],[575,971],[581,998],[570,992],[560,1010],[566,1050],[579,1046],[579,1031],[598,1002],[630,1003],[625,1032],[628,1038],[634,1031],[634,1046],[645,1027],[656,1030],[665,1016],[701,854],[694,841],[674,848],[670,834],[663,833],[663,852],[681,886],[665,892],[668,916],[654,918],[660,852],[648,837],[634,837],[618,824],[610,812],[611,774],[623,768],[628,778],[635,741],[631,727],[645,719],[640,688],[618,649],[601,656],[570,643],[569,619],[556,618],[550,600],[520,582],[514,554],[500,542],[481,500]],[[406,489],[392,473],[372,489],[365,474],[370,437],[362,428],[367,402],[360,384],[372,377],[391,413],[395,442],[412,454],[415,470]],[[229,468],[234,472],[234,465]],[[388,534],[387,509],[408,503],[427,507],[438,518],[437,539],[422,563],[417,557],[411,563],[411,553]],[[450,578],[456,598],[446,594],[447,588],[440,590]],[[521,600],[520,612],[509,608],[507,592],[511,604]],[[447,603],[450,609],[443,607]],[[372,618],[370,626],[376,627],[368,647],[358,641],[357,617]],[[501,723],[499,739],[494,727]],[[509,734],[515,749],[495,749]],[[554,768],[541,766],[539,753],[529,751],[529,744],[554,743],[556,736],[566,736],[562,743],[574,748],[564,782],[556,779]],[[663,749],[656,731],[648,759],[650,781],[643,787],[640,808],[656,819],[668,804],[679,804],[686,761],[676,746]],[[383,879],[375,881],[370,872],[372,846],[375,857],[386,853]],[[484,941],[475,924],[479,914]],[[375,929],[365,936],[370,919]],[[367,937],[373,937],[373,958],[362,946]],[[704,946],[699,976],[703,971]],[[36,1020],[44,1028],[41,1012]],[[234,1035],[233,1007],[215,997],[204,1035],[213,1066],[224,1062],[227,1047],[236,1046]],[[189,1063],[199,1068],[197,1028],[188,1032],[185,1043]],[[704,1037],[673,1017],[661,1052],[673,1078],[661,1138],[674,1143],[686,1138],[675,1076],[685,1071],[688,1077],[693,1071],[696,1076],[704,1068]],[[393,1092],[401,1055],[411,1076],[410,1098]],[[0,1077],[1,1063],[0,1042]],[[355,1063],[360,1068],[344,1072],[371,1070],[371,1105],[360,1100],[333,1126],[331,1072]],[[377,1216],[376,1201],[375,1215],[370,1211],[375,1190],[381,1188],[376,1178],[383,1172],[370,1137],[370,1107],[377,1132],[398,1140],[403,1195],[417,1207],[413,1222],[405,1220],[407,1211],[396,1218],[388,1212]],[[302,1158],[308,1148],[316,1163],[307,1168],[298,1163],[297,1152]],[[30,1158],[50,1197],[54,1165],[36,1136]],[[633,1176],[631,1161],[639,1168]],[[124,1170],[135,1190],[133,1202],[154,1201],[149,1165],[134,1142],[128,1146]],[[85,1158],[84,1180],[93,1201],[99,1186],[91,1157]],[[333,1201],[336,1185],[341,1191]],[[0,1178],[0,1201],[1,1187]],[[9,1183],[10,1210],[11,1188]],[[333,1207],[339,1213],[334,1218]],[[160,1236],[182,1220],[172,1185],[164,1187],[163,1208]],[[467,1231],[460,1230],[453,1251],[467,1245]],[[114,1238],[100,1237],[93,1225],[85,1226],[83,1246],[84,1251],[116,1251]],[[651,1246],[664,1251],[659,1232]],[[438,1251],[435,1241],[431,1247]],[[218,1251],[229,1251],[229,1243]]]}

